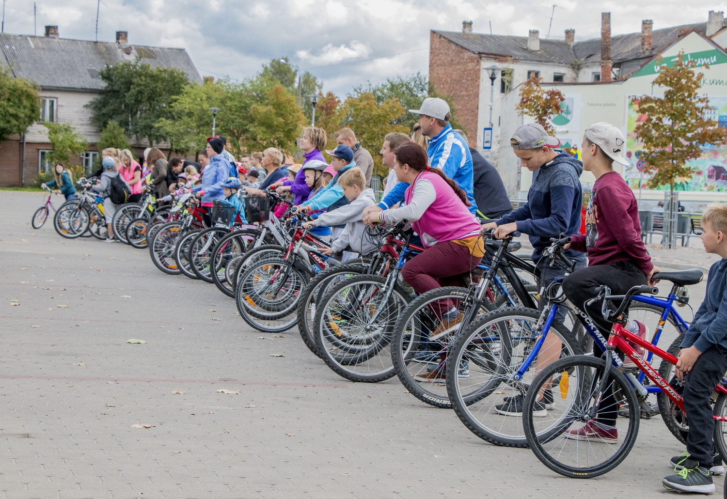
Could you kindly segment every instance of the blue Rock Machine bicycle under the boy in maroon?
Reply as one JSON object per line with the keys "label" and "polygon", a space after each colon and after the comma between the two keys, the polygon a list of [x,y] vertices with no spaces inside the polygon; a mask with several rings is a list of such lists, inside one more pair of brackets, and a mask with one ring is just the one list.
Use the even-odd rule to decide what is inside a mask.
{"label": "blue Rock Machine bicycle under the boy in maroon", "polygon": [[[541,261],[545,264],[562,262],[572,269],[572,262],[562,253],[563,246],[569,241],[570,238],[553,239],[554,245],[547,248]],[[688,323],[679,315],[675,304],[688,301],[688,292],[684,286],[699,283],[702,272],[661,272],[654,278],[671,281],[672,290],[665,298],[633,296],[629,317],[646,325],[656,322],[651,338],[654,345],[664,336],[664,328],[669,328],[668,334],[676,337],[670,350],[678,349],[679,336],[686,331]],[[560,283],[551,283],[542,293],[548,300],[542,312],[509,307],[479,317],[456,338],[447,360],[446,388],[455,413],[470,431],[495,445],[528,445],[521,415],[531,381],[542,368],[558,358],[581,353],[582,344],[585,343],[578,341],[567,328],[555,321],[559,307],[566,307]],[[576,307],[570,307],[580,312]],[[598,328],[589,323],[585,330],[593,339],[593,344],[605,352],[607,338]],[[651,361],[651,358],[650,353],[646,360]],[[619,357],[614,356],[614,363],[622,368]],[[462,365],[468,366],[469,376],[458,376]],[[664,378],[670,379],[671,369],[671,365],[662,365],[659,372]],[[664,422],[675,437],[683,440],[686,424],[680,412],[670,407],[670,400],[664,400],[667,397],[661,394],[657,386],[644,386],[643,373],[638,369],[624,369],[624,372],[639,394],[642,414],[648,416],[655,413],[647,397],[657,394]],[[558,380],[553,380],[553,385],[557,384]],[[550,391],[542,395],[542,411],[534,413],[534,417],[547,415],[547,410],[553,405],[553,397]]]}

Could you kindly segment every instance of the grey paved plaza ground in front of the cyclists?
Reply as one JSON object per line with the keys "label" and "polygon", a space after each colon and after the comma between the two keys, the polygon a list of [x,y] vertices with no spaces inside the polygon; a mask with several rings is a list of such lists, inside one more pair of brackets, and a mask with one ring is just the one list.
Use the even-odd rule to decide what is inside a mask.
{"label": "grey paved plaza ground in front of the cyclists", "polygon": [[[297,330],[252,330],[233,299],[159,272],[147,250],[33,230],[42,199],[0,192],[0,497],[676,497],[661,479],[683,446],[661,418],[641,421],[616,471],[566,479],[398,378],[345,381]],[[656,251],[715,261],[691,246]]]}

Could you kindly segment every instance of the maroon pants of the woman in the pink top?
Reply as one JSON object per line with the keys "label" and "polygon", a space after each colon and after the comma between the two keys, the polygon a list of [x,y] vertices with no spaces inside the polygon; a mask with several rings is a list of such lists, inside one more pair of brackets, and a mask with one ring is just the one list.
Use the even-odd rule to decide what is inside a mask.
{"label": "maroon pants of the woman in the pink top", "polygon": [[[435,244],[407,261],[401,269],[401,277],[419,294],[443,286],[464,287],[465,275],[477,267],[481,260],[479,256],[470,255],[469,248],[446,241]],[[439,315],[454,306],[451,300],[443,300],[438,305],[439,310],[435,312]]]}

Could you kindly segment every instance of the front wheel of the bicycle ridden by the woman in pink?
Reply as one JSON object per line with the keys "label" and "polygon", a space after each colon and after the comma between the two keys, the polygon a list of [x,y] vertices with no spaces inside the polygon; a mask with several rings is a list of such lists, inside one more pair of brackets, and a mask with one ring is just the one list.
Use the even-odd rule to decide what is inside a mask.
{"label": "front wheel of the bicycle ridden by the woman in pink", "polygon": [[326,365],[351,381],[376,383],[394,376],[394,325],[410,300],[392,276],[361,275],[330,288],[313,324]]}

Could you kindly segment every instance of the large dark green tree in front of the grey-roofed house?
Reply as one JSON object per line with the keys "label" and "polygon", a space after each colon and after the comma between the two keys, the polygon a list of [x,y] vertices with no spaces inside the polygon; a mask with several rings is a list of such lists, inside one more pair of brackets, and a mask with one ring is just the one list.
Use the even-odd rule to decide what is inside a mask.
{"label": "large dark green tree in front of the grey-roofed house", "polygon": [[176,68],[151,68],[139,60],[106,66],[99,71],[106,86],[100,97],[90,102],[91,118],[99,130],[116,121],[137,142],[147,139],[150,145],[167,139],[157,123],[166,114],[174,97],[189,82]]}

